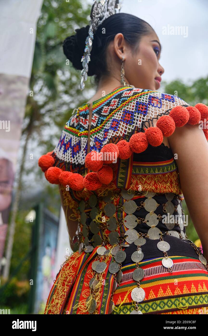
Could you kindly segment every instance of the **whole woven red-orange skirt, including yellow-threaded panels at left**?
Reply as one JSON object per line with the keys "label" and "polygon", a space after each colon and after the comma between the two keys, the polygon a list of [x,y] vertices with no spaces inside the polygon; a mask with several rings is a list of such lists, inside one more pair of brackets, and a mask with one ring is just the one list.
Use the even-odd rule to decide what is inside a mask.
{"label": "whole woven red-orange skirt, including yellow-threaded panels at left", "polygon": [[[96,249],[90,255],[85,252],[73,255],[59,271],[48,296],[45,314],[89,314],[86,300],[90,295],[89,282],[93,278],[92,263]],[[208,272],[199,259],[169,256],[173,260],[172,271],[162,265],[163,257],[144,259],[139,267],[144,270],[140,287],[145,298],[138,303],[142,314],[206,314],[208,312]],[[109,259],[109,262],[112,258]],[[108,266],[109,266],[108,262]],[[136,264],[122,267],[122,281],[113,292],[112,314],[130,314],[134,310],[131,291],[136,287],[132,272]],[[113,289],[113,275],[106,270],[100,274],[101,287],[96,294],[97,308],[94,314],[108,314]]]}

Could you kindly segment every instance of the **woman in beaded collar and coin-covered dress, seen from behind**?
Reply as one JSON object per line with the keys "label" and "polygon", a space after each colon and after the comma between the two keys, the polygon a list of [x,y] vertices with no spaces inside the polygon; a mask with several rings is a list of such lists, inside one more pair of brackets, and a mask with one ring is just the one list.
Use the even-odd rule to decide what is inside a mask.
{"label": "woman in beaded collar and coin-covered dress, seen from behind", "polygon": [[[47,180],[60,186],[75,251],[45,313],[203,313],[208,144],[199,122],[208,109],[156,91],[161,45],[143,20],[108,15],[93,31],[91,60],[82,64],[88,31],[67,38],[64,52],[76,69],[84,65],[82,76],[95,76],[96,94],[39,159]],[[82,61],[87,54],[86,48]],[[186,236],[184,197],[203,255]]]}

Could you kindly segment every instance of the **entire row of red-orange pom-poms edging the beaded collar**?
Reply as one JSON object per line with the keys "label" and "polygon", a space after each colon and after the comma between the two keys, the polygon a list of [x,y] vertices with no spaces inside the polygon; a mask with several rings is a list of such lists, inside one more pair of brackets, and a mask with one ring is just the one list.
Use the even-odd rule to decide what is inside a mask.
{"label": "entire row of red-orange pom-poms edging the beaded collar", "polygon": [[[152,146],[159,146],[163,142],[163,136],[171,136],[176,127],[182,127],[186,123],[195,125],[200,120],[208,119],[208,107],[204,104],[196,104],[195,107],[189,106],[187,108],[176,106],[173,108],[169,116],[162,116],[157,121],[156,127],[145,129],[144,133],[133,134],[127,142],[121,140],[117,144],[109,143],[103,146],[100,152],[106,152],[108,155],[114,154],[114,159],[121,158],[128,159],[132,153],[141,153],[146,150],[148,144]],[[207,131],[204,130],[207,138]],[[49,154],[49,155],[48,155]],[[85,177],[78,173],[62,171],[58,167],[51,167],[55,160],[50,156],[50,153],[40,157],[38,164],[45,172],[45,177],[50,183],[69,185],[73,190],[96,190],[102,184],[109,184],[113,179],[113,170],[108,164],[113,160],[100,159],[101,156],[94,156],[95,151],[87,154],[85,159],[85,166],[92,170]],[[92,159],[93,157],[93,159]],[[112,156],[113,157],[113,156]],[[96,159],[95,159],[96,158]],[[105,165],[104,165],[105,163]]]}

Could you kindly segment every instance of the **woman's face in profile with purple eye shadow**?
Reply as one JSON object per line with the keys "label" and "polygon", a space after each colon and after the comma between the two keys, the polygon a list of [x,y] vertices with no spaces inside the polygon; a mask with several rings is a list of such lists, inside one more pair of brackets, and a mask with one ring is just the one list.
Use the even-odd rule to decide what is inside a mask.
{"label": "woman's face in profile with purple eye shadow", "polygon": [[159,63],[161,53],[159,42],[158,36],[152,31],[141,38],[137,52],[132,54],[130,47],[126,49],[124,71],[129,84],[153,91],[160,88],[164,69]]}

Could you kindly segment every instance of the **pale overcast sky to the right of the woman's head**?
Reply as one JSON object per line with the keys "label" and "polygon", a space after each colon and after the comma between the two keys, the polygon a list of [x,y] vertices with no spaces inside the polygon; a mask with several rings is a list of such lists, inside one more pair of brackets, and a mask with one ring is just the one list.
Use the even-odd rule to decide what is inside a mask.
{"label": "pale overcast sky to the right of the woman's head", "polygon": [[[207,76],[208,0],[123,0],[120,12],[140,17],[155,30],[163,48],[162,79],[188,83]],[[184,27],[183,35],[163,34],[163,27],[177,26]]]}

